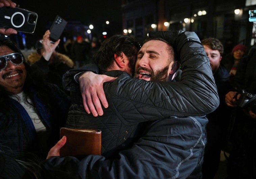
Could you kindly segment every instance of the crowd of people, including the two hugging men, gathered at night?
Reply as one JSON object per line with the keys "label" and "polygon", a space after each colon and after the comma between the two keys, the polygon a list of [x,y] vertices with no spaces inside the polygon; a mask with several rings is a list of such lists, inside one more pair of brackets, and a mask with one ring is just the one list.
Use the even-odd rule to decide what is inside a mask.
{"label": "crowd of people, including the two hugging men, gathered at night", "polygon": [[[221,150],[228,178],[256,177],[256,46],[225,55],[184,31],[59,43],[46,30],[26,59],[0,37],[0,178],[213,179]],[[101,155],[60,156],[61,127],[100,129]]]}

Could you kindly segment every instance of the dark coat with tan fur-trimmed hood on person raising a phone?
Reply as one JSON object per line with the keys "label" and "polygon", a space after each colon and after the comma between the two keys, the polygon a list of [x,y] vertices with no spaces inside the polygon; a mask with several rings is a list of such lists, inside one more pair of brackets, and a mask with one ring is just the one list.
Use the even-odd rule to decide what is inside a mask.
{"label": "dark coat with tan fur-trimmed hood on person raising a phone", "polygon": [[66,71],[73,69],[74,62],[67,56],[56,52],[53,59],[46,61],[38,53],[31,53],[27,60],[31,66],[41,71],[47,82],[57,85],[63,90],[62,76]]}

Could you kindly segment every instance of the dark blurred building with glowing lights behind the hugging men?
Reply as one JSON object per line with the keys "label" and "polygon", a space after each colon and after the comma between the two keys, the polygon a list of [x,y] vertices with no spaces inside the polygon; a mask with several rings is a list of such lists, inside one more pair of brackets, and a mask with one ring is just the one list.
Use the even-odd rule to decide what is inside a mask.
{"label": "dark blurred building with glowing lights behind the hugging men", "polygon": [[256,0],[122,0],[123,30],[140,42],[152,30],[184,30],[200,39],[232,39],[250,46],[255,42],[251,9]]}

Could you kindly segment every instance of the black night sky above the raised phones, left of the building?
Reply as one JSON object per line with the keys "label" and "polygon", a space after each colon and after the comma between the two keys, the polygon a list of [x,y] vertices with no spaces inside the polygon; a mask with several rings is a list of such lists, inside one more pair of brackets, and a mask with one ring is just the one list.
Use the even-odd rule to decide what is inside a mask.
{"label": "black night sky above the raised phones, left of the building", "polygon": [[26,33],[27,39],[42,38],[57,15],[66,21],[93,24],[95,33],[102,33],[102,24],[110,22],[113,33],[122,31],[121,0],[13,0],[20,8],[38,14],[34,33]]}

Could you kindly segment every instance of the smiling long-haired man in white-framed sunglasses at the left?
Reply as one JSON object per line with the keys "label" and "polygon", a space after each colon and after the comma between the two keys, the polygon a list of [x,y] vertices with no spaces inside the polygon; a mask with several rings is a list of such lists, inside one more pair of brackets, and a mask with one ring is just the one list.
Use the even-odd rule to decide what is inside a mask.
{"label": "smiling long-haired man in white-framed sunglasses at the left", "polygon": [[[50,46],[54,49],[57,43]],[[16,44],[2,37],[0,101],[0,150],[20,160],[45,158],[66,121],[69,97],[44,83]]]}

